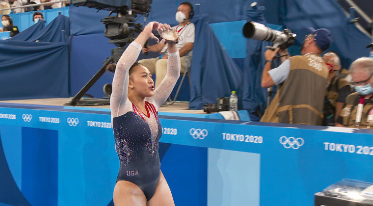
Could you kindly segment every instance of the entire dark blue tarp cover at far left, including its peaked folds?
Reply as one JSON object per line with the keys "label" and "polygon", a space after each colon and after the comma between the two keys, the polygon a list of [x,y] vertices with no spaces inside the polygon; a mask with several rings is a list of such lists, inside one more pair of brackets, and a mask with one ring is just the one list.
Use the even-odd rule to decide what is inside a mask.
{"label": "entire dark blue tarp cover at far left, including its peaked folds", "polygon": [[[69,18],[40,22],[0,41],[0,100],[68,97]],[[65,30],[65,32],[62,32]],[[35,42],[35,41],[39,42]]]}

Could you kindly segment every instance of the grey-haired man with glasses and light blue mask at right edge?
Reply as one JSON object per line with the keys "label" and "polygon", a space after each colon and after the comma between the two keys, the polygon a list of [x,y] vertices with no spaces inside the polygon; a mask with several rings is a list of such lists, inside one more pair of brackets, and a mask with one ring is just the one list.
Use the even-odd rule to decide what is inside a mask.
{"label": "grey-haired man with glasses and light blue mask at right edge", "polygon": [[336,126],[373,129],[373,59],[358,58],[349,71],[356,92],[347,96]]}

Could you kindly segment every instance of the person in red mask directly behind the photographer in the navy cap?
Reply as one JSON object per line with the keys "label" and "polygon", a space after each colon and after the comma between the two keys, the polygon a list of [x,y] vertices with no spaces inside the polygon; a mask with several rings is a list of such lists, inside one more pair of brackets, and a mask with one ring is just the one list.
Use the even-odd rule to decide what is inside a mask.
{"label": "person in red mask directly behind the photographer in the navy cap", "polygon": [[346,97],[351,94],[349,82],[338,77],[342,69],[341,61],[335,52],[326,52],[323,56],[329,75],[326,79],[326,99],[324,103],[324,126],[334,126],[334,121],[345,104]]}

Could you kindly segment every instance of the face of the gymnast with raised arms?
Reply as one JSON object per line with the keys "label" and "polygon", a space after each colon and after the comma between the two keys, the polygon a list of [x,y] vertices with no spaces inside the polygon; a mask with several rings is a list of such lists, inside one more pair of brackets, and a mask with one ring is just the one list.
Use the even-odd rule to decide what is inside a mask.
{"label": "face of the gymnast with raised arms", "polygon": [[141,98],[151,97],[154,95],[154,81],[152,74],[144,66],[136,66],[130,75],[128,89]]}

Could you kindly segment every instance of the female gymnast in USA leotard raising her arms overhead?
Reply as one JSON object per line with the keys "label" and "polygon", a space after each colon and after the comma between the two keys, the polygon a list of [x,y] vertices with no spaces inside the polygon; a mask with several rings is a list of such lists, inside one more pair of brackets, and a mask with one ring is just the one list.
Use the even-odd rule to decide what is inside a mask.
{"label": "female gymnast in USA leotard raising her arms overhead", "polygon": [[[119,59],[110,98],[115,148],[120,160],[115,184],[115,206],[174,206],[171,190],[160,171],[158,145],[162,127],[158,108],[180,76],[180,55],[175,42],[168,46],[167,75],[155,89],[149,70],[135,62],[145,42],[171,27],[150,22]],[[159,40],[158,40],[159,41]]]}

